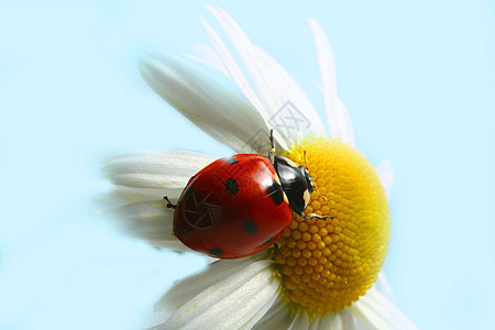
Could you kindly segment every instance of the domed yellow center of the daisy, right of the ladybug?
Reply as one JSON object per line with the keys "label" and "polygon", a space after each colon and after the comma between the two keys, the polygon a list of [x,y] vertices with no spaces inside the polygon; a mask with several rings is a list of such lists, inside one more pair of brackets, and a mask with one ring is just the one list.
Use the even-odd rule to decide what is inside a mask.
{"label": "domed yellow center of the daisy, right of the ladybug", "polygon": [[295,216],[277,241],[284,298],[293,311],[326,316],[363,296],[385,258],[391,217],[376,169],[340,140],[309,139],[285,156],[305,164],[317,191],[305,213]]}

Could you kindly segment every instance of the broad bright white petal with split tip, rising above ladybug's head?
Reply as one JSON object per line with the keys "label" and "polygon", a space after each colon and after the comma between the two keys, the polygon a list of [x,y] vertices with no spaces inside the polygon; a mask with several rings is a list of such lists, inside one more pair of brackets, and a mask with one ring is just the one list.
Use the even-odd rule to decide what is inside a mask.
{"label": "broad bright white petal with split tip, rising above ladybug's head", "polygon": [[[245,97],[275,130],[287,148],[298,134],[321,133],[323,125],[311,102],[292,77],[265,52],[253,45],[242,29],[222,9],[207,6],[226,37],[205,21],[211,43]],[[282,141],[280,141],[282,140]]]}

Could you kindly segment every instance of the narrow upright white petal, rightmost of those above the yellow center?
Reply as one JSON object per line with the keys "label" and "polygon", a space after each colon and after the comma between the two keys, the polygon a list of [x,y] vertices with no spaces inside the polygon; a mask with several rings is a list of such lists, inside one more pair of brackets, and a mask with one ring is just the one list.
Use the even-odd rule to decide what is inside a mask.
{"label": "narrow upright white petal, rightmost of those above the yellow center", "polygon": [[340,138],[343,142],[353,145],[354,132],[351,118],[337,94],[333,52],[323,29],[312,19],[309,19],[309,25],[317,47],[330,135],[332,138]]}

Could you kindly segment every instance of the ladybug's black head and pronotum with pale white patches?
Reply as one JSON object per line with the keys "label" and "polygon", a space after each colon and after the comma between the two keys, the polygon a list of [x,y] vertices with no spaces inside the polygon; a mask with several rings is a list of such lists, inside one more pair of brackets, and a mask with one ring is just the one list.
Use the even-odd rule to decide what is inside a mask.
{"label": "ladybug's black head and pronotum with pale white patches", "polygon": [[282,156],[274,157],[274,167],[290,208],[297,215],[304,216],[302,212],[308,207],[310,200],[309,195],[315,189],[308,169]]}

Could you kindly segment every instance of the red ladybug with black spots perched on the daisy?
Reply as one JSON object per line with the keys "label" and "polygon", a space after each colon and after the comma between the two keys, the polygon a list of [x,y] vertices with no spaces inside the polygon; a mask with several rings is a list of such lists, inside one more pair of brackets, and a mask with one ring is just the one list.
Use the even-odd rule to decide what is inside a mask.
{"label": "red ladybug with black spots perched on the daisy", "polygon": [[304,210],[314,191],[302,165],[273,155],[237,154],[207,165],[193,176],[174,208],[174,235],[186,246],[218,258],[239,258],[274,244],[293,212],[306,219],[331,218]]}

